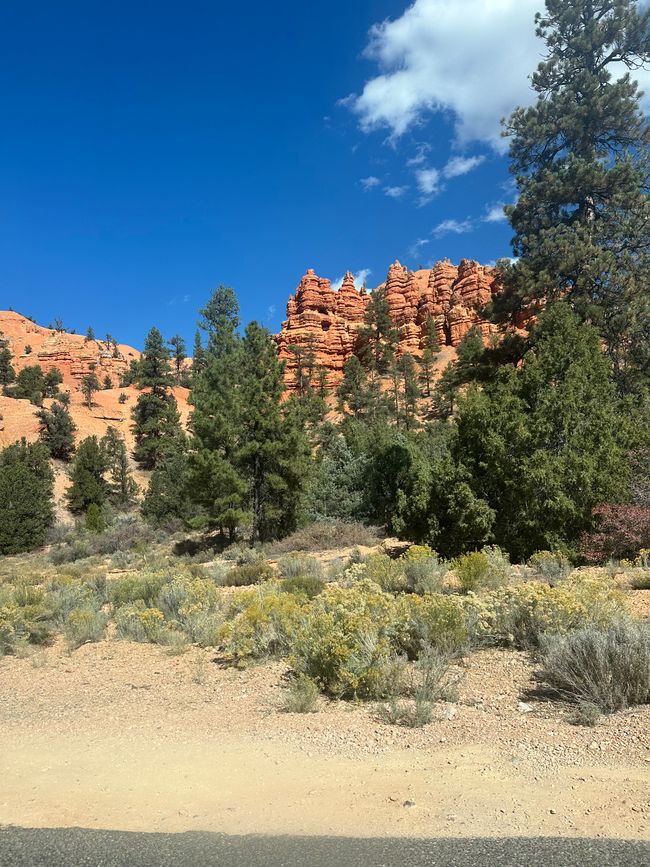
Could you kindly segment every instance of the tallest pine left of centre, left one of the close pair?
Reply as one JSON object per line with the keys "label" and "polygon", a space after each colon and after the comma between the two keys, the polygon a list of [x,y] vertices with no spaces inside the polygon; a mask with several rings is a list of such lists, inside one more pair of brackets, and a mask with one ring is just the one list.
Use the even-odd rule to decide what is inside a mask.
{"label": "tallest pine left of centre, left one of the close pair", "polygon": [[[235,467],[240,425],[241,346],[239,306],[234,291],[219,286],[201,311],[207,349],[199,336],[200,364],[194,365],[190,402],[187,483],[213,529],[232,538],[246,522],[247,485]],[[196,348],[195,348],[196,360]]]}

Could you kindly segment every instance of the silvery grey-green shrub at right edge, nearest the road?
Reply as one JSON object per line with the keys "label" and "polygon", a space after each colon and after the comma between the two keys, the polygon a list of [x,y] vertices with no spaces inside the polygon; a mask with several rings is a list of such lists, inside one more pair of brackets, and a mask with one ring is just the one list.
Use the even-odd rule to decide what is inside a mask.
{"label": "silvery grey-green shrub at right edge, nearest the road", "polygon": [[539,678],[564,699],[603,713],[650,702],[650,626],[621,620],[547,636]]}

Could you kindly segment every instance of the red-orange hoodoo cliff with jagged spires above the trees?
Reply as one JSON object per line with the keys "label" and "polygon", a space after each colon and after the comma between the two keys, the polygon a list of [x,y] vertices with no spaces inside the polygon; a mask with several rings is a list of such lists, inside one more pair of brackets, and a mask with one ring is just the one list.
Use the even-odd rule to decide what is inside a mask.
{"label": "red-orange hoodoo cliff with jagged spires above the trees", "polygon": [[[464,259],[460,265],[445,260],[431,269],[409,271],[394,262],[386,282],[390,314],[399,332],[400,354],[422,354],[427,318],[433,317],[440,345],[455,347],[474,325],[485,336],[494,326],[480,311],[498,291],[493,268]],[[287,390],[297,387],[298,367],[325,370],[330,388],[343,375],[343,366],[354,353],[370,296],[358,290],[349,272],[341,288],[307,271],[287,304],[287,319],[277,336],[280,357],[286,364]]]}

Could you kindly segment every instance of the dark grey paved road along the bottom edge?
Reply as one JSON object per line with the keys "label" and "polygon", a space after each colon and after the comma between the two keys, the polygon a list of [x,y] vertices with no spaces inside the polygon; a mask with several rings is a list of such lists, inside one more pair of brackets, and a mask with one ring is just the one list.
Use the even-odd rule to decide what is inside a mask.
{"label": "dark grey paved road along the bottom edge", "polygon": [[1,867],[650,867],[650,843],[0,829]]}

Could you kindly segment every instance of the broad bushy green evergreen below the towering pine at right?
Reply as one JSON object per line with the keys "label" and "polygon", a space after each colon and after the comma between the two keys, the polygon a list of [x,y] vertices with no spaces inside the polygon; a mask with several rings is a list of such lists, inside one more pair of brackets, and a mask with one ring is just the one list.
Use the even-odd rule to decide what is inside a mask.
{"label": "broad bushy green evergreen below the towering pine at right", "polygon": [[597,331],[556,302],[530,346],[520,368],[461,398],[455,452],[496,512],[497,543],[517,558],[576,550],[594,506],[628,488],[624,424]]}

